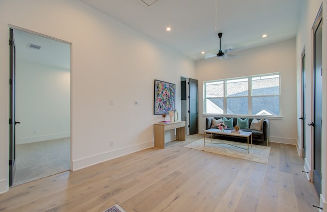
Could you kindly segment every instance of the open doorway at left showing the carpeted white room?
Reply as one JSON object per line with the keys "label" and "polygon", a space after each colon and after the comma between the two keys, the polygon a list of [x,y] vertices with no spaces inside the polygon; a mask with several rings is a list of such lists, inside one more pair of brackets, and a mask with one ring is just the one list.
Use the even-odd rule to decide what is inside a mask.
{"label": "open doorway at left showing the carpeted white room", "polygon": [[71,169],[71,45],[12,28],[15,43],[11,184]]}

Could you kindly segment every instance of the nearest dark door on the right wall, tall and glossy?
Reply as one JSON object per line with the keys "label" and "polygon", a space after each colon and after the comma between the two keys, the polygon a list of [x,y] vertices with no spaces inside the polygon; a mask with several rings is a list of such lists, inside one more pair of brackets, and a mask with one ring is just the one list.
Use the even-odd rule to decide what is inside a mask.
{"label": "nearest dark door on the right wall, tall and glossy", "polygon": [[322,17],[314,27],[314,146],[313,183],[321,194],[321,123],[322,123]]}

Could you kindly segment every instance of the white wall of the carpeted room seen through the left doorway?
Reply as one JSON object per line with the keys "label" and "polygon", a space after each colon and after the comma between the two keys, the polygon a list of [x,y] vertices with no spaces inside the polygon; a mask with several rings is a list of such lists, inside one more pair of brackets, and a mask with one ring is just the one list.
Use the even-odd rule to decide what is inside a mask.
{"label": "white wall of the carpeted room seen through the left doorway", "polygon": [[16,61],[16,144],[70,136],[70,74]]}

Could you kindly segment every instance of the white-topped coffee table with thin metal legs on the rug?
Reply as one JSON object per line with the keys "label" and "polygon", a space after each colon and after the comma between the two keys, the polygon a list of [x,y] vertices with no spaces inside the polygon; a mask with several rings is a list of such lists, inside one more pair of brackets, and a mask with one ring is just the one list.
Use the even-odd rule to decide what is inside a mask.
{"label": "white-topped coffee table with thin metal legs on the rug", "polygon": [[[251,148],[252,148],[252,132],[242,131],[242,132],[240,132],[240,134],[237,134],[237,133],[231,133],[231,131],[232,130],[229,130],[229,129],[224,129],[224,131],[220,131],[219,129],[214,129],[214,128],[204,130],[203,146],[205,146],[206,143],[207,144],[220,144],[220,143],[228,144],[228,143],[224,143],[222,141],[219,141],[219,143],[214,143],[213,142],[213,134],[224,135],[224,136],[245,137],[245,138],[247,138],[247,148],[243,148],[243,147],[232,145],[232,144],[228,144],[228,145],[235,146],[235,147],[238,147],[241,149],[245,149],[245,150],[247,150],[247,153],[249,153],[249,139],[251,139]],[[211,142],[210,143],[205,142],[205,137],[207,134],[211,134]]]}

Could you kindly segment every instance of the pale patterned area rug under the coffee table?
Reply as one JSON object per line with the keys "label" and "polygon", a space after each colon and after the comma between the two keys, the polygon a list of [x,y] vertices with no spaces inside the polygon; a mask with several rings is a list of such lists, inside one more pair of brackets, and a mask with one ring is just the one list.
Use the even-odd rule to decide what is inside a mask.
{"label": "pale patterned area rug under the coffee table", "polygon": [[[211,139],[205,139],[205,141],[211,142]],[[241,158],[244,160],[258,162],[262,164],[268,164],[270,147],[252,144],[252,148],[249,147],[249,153],[247,153],[247,150],[244,149],[240,149],[227,144],[221,144],[221,143],[218,144],[219,141],[220,140],[218,139],[213,139],[213,143],[205,143],[205,146],[203,146],[203,139],[200,139],[184,147],[202,150],[205,152],[222,154],[230,157]],[[215,144],[214,142],[216,142],[217,144]],[[222,142],[236,145],[236,146],[241,146],[243,148],[246,148],[247,146],[246,143],[241,143],[241,142],[232,142],[232,141],[225,141],[225,140]]]}

